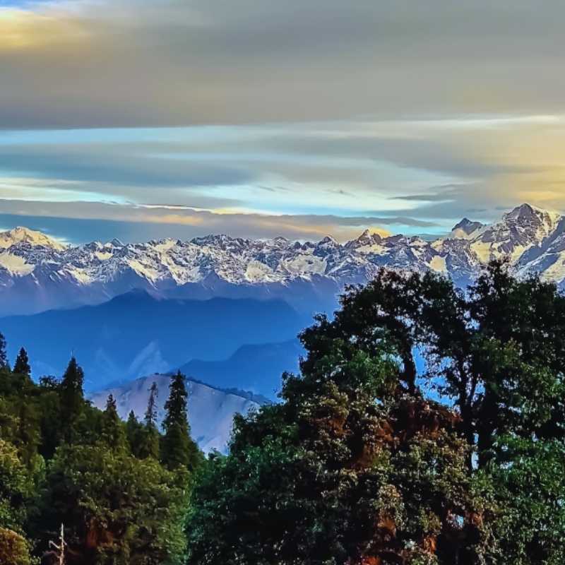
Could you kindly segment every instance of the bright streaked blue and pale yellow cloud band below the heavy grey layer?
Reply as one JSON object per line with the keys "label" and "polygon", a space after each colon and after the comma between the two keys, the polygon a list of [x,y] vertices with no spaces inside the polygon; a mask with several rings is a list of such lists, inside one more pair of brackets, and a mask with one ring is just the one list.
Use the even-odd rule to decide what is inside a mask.
{"label": "bright streaked blue and pale yellow cloud band below the heavy grey layer", "polygon": [[383,226],[436,234],[463,215],[489,221],[523,201],[565,208],[564,148],[559,115],[5,131],[0,198],[18,201],[18,213],[28,202],[29,215],[39,213],[31,201],[49,215],[75,203],[66,218],[81,218],[81,202],[155,206],[159,215],[136,221],[266,237],[275,227],[301,239]]}

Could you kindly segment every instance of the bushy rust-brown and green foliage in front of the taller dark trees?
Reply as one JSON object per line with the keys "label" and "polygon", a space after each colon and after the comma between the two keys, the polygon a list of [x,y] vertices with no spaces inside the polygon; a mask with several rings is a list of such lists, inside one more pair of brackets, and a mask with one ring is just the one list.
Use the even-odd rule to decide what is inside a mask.
{"label": "bushy rust-brown and green foliage in front of the taller dark trees", "polygon": [[395,396],[386,355],[349,353],[336,343],[287,377],[283,405],[237,420],[230,456],[194,492],[191,563],[486,559],[489,501],[472,487],[456,417]]}

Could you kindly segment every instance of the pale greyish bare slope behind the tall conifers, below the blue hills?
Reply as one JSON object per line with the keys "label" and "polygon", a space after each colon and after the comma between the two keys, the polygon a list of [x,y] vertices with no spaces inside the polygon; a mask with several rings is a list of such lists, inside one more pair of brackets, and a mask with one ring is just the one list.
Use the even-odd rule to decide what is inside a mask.
{"label": "pale greyish bare slope behind the tall conifers, below the blue hills", "polygon": [[[157,421],[160,425],[165,417],[165,402],[169,396],[170,377],[163,374],[153,374],[142,379],[136,379],[123,386],[107,388],[104,391],[91,393],[88,399],[97,408],[104,410],[109,394],[116,398],[118,413],[124,420],[130,410],[143,420],[149,388],[157,383]],[[217,449],[222,453],[227,451],[227,442],[232,433],[234,415],[239,412],[246,414],[249,410],[259,407],[257,402],[237,393],[222,391],[198,381],[186,379],[189,392],[188,411],[191,435],[204,453]]]}

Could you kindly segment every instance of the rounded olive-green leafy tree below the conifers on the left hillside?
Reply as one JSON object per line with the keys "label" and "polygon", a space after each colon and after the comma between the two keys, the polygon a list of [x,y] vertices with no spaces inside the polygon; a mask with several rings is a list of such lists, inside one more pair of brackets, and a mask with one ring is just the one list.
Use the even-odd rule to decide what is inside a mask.
{"label": "rounded olive-green leafy tree below the conifers on the left hillside", "polygon": [[[44,521],[64,522],[72,563],[180,564],[189,477],[105,444],[60,446],[49,464]],[[54,533],[52,533],[54,535]]]}

